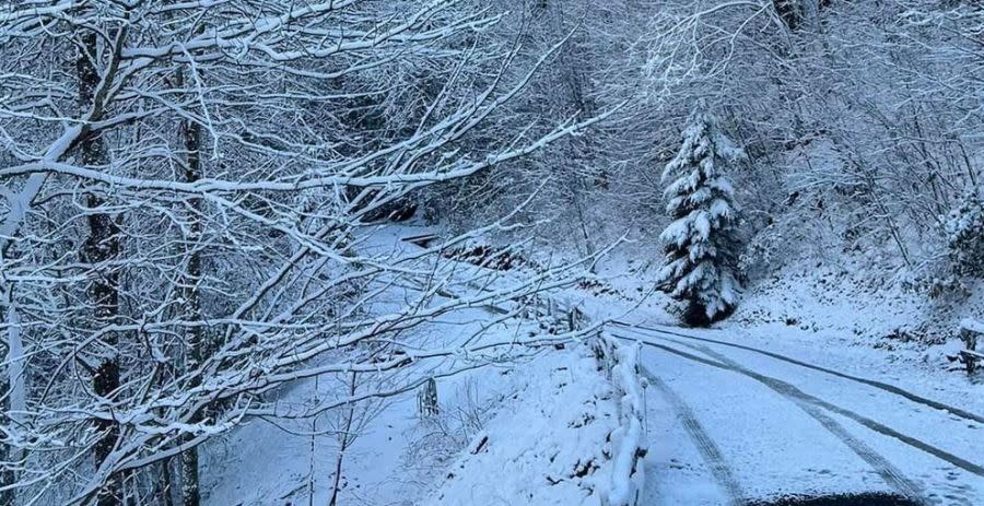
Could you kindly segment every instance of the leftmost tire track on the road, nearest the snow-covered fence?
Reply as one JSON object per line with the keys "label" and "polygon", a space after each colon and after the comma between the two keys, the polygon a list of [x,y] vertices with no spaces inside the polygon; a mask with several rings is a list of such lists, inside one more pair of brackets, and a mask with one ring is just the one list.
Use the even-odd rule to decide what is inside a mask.
{"label": "leftmost tire track on the road, nearest the snow-covered fence", "polygon": [[714,440],[711,439],[711,436],[707,434],[707,431],[704,429],[703,425],[698,421],[693,410],[677,395],[677,392],[670,389],[664,380],[659,379],[658,376],[654,375],[645,367],[640,366],[640,369],[649,384],[659,390],[659,393],[663,395],[673,411],[677,412],[683,428],[687,431],[687,434],[690,435],[694,446],[696,446],[698,451],[701,454],[701,458],[707,463],[717,484],[727,495],[727,506],[741,506],[746,504],[745,492],[741,490],[741,485],[728,467],[721,449]]}

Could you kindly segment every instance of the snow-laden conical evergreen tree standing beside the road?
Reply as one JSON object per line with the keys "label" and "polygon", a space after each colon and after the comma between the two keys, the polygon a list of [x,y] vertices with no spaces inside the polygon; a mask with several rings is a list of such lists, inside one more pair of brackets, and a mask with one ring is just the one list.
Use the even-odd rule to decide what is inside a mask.
{"label": "snow-laden conical evergreen tree standing beside the road", "polygon": [[663,172],[666,211],[673,222],[660,234],[666,254],[658,287],[687,303],[683,321],[707,326],[738,302],[738,239],[728,164],[743,156],[702,109],[690,118],[677,156]]}

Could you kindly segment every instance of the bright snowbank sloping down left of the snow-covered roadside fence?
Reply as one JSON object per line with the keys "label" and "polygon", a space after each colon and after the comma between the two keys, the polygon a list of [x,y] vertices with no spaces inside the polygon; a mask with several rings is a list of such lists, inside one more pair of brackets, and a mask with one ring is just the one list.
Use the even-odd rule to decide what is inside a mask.
{"label": "bright snowbank sloping down left of the snow-covered roadside fence", "polygon": [[634,505],[645,455],[635,357],[598,340],[529,364],[424,504]]}

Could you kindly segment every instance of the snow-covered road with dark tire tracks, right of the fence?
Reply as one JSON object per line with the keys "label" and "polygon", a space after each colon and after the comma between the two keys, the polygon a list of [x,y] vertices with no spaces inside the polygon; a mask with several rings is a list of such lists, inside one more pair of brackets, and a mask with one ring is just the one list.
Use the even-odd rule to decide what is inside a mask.
{"label": "snow-covered road with dark tire tracks, right of the fence", "polygon": [[818,360],[818,349],[780,354],[718,333],[611,331],[644,345],[652,454],[643,504],[885,493],[909,499],[885,504],[984,505],[976,400],[944,402],[823,366],[839,362]]}

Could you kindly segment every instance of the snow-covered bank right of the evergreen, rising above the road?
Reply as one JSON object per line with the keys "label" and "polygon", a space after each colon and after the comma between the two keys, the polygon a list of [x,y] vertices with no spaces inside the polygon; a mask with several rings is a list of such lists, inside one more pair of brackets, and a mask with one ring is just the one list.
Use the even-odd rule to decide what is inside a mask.
{"label": "snow-covered bank right of the evergreen, rising above the road", "polygon": [[945,368],[945,348],[958,340],[961,321],[984,314],[984,284],[967,286],[968,296],[930,298],[892,282],[874,262],[804,261],[749,286],[731,321],[812,334],[828,346],[877,346],[886,362]]}

